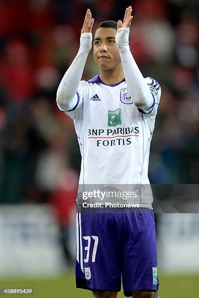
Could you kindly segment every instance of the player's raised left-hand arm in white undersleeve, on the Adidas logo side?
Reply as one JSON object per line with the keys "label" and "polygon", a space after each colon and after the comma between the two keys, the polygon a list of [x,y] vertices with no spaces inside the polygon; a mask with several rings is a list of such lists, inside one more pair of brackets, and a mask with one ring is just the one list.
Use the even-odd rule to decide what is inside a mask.
{"label": "player's raised left-hand arm in white undersleeve, on the Adidas logo side", "polygon": [[78,90],[88,54],[92,48],[94,19],[87,9],[80,36],[80,48],[69,69],[63,76],[57,91],[57,103],[64,111],[73,109],[73,99]]}

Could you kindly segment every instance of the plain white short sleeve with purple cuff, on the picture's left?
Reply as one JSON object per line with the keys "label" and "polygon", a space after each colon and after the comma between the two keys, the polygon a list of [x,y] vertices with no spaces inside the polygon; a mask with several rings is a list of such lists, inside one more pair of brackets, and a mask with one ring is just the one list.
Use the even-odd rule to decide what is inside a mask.
{"label": "plain white short sleeve with purple cuff, on the picture's left", "polygon": [[57,102],[57,106],[61,112],[64,112],[65,114],[67,114],[74,120],[76,118],[77,114],[80,112],[82,102],[83,102],[83,86],[80,82],[80,84],[78,86],[78,91],[76,92],[75,96],[72,99],[71,110],[68,110],[68,111],[63,110],[60,107],[58,102]]}

